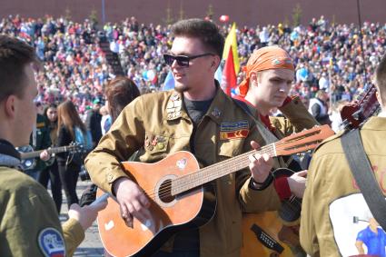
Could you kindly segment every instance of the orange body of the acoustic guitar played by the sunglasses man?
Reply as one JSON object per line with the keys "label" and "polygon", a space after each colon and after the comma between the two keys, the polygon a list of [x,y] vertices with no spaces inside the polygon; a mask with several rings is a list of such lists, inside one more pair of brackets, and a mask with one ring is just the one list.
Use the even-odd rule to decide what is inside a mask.
{"label": "orange body of the acoustic guitar played by the sunglasses man", "polygon": [[[213,217],[215,201],[203,197],[206,187],[177,197],[172,197],[168,190],[167,182],[171,179],[199,170],[192,153],[174,153],[158,163],[122,164],[148,193],[151,218],[145,221],[134,218],[133,228],[127,227],[121,218],[119,204],[109,198],[107,207],[98,213],[98,229],[104,248],[111,255],[151,256],[175,232],[201,226]],[[97,196],[102,194],[98,189]]]}

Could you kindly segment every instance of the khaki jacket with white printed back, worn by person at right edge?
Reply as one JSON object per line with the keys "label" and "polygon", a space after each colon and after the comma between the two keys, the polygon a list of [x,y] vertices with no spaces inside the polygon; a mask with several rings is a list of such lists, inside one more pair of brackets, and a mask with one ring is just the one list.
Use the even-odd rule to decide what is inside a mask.
{"label": "khaki jacket with white printed back, worn by person at right edge", "polygon": [[[353,179],[340,137],[341,134],[334,135],[319,146],[308,173],[302,200],[301,243],[312,256],[356,255],[359,254],[356,243],[370,241],[371,213]],[[386,193],[385,138],[386,118],[371,117],[361,128],[364,150],[383,193]],[[380,240],[378,245],[384,252],[385,234],[380,230],[378,235],[374,238]],[[381,252],[364,253],[384,256]]]}

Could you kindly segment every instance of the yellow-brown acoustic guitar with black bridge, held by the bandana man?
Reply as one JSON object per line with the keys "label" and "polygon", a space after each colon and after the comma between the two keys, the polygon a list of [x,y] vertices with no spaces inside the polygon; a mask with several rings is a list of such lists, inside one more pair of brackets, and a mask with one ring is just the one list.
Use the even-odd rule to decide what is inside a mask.
{"label": "yellow-brown acoustic guitar with black bridge, held by the bandana man", "polygon": [[[280,168],[275,178],[289,177],[294,172]],[[242,215],[242,257],[305,256],[299,242],[299,218],[302,199],[291,196],[279,211],[244,213]]]}

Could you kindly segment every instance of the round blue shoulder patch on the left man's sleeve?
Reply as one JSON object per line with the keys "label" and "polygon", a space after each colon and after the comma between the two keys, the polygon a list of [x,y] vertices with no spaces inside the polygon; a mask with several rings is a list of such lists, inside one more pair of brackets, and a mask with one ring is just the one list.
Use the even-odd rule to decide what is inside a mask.
{"label": "round blue shoulder patch on the left man's sleeve", "polygon": [[37,237],[40,250],[45,257],[64,257],[65,245],[63,235],[54,228],[45,228]]}

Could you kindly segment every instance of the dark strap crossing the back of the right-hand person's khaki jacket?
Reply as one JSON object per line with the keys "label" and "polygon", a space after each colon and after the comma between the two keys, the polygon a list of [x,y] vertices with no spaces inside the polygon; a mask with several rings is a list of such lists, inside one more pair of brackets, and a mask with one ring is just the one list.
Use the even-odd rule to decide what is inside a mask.
{"label": "dark strap crossing the back of the right-hand person's khaki jacket", "polygon": [[341,136],[341,145],[350,164],[351,173],[375,220],[386,230],[386,201],[364,152],[358,129]]}

